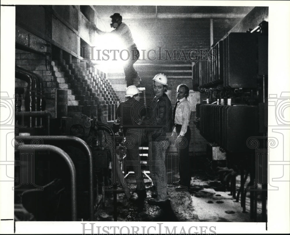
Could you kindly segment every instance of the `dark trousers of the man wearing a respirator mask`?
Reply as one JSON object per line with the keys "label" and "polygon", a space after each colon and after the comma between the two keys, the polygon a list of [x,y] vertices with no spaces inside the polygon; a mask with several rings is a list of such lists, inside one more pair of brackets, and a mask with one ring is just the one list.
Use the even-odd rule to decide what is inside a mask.
{"label": "dark trousers of the man wearing a respirator mask", "polygon": [[128,49],[130,53],[130,58],[126,60],[124,64],[124,73],[127,87],[133,85],[134,79],[137,78],[138,73],[134,69],[133,64],[139,59],[140,53],[137,47],[131,47]]}

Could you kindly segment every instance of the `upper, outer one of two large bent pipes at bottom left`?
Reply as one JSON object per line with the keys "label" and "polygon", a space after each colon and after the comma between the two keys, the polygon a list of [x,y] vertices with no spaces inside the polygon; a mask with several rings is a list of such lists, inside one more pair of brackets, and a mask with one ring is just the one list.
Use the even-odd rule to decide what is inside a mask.
{"label": "upper, outer one of two large bent pipes at bottom left", "polygon": [[93,154],[90,150],[88,144],[80,139],[79,137],[75,136],[68,136],[68,135],[41,135],[41,136],[16,136],[15,139],[21,139],[23,141],[31,141],[35,138],[41,138],[43,141],[71,141],[77,142],[80,144],[86,151],[88,155],[89,161],[89,211],[90,211],[90,221],[94,220],[94,191],[93,191]]}

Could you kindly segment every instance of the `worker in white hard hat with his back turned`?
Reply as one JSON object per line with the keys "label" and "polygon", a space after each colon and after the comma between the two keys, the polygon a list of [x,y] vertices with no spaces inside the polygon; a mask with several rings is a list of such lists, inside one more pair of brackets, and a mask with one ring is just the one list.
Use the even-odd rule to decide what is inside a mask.
{"label": "worker in white hard hat with his back turned", "polygon": [[[117,116],[121,118],[121,126],[126,141],[131,144],[131,146],[129,146],[130,144],[126,145],[127,151],[124,168],[128,169],[128,166],[133,167],[135,174],[134,179],[136,180],[136,189],[134,192],[136,192],[138,196],[135,202],[144,203],[146,190],[140,165],[139,146],[142,146],[147,139],[145,139],[144,126],[141,125],[142,116],[145,116],[145,106],[144,101],[140,99],[140,93],[141,91],[139,91],[136,86],[129,86],[125,94],[127,100],[120,102],[117,108]],[[140,109],[142,105],[144,106],[143,110]],[[136,113],[137,111],[140,112]]]}

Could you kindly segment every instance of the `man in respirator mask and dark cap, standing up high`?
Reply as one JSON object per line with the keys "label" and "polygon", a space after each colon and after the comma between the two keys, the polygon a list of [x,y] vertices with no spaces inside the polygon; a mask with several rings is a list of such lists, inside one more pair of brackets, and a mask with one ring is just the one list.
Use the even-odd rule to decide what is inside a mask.
{"label": "man in respirator mask and dark cap, standing up high", "polygon": [[124,50],[127,50],[127,52],[130,54],[129,58],[125,61],[126,63],[124,64],[124,73],[127,87],[131,85],[135,85],[137,87],[139,86],[141,79],[138,72],[134,69],[133,64],[139,59],[139,50],[133,41],[129,27],[124,22],[122,22],[122,16],[119,13],[114,13],[110,16],[110,18],[112,19],[110,26],[114,28],[114,30],[111,32],[103,32],[92,23],[88,23],[87,26],[95,30],[98,34],[114,34],[116,43],[122,43],[124,45]]}

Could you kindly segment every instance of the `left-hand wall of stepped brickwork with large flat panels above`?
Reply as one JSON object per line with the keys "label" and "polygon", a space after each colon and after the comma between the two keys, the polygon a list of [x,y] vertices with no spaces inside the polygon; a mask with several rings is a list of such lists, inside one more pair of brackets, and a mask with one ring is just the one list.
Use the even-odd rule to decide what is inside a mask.
{"label": "left-hand wall of stepped brickwork with large flat panels above", "polygon": [[[93,6],[17,5],[16,45],[23,51],[16,50],[15,63],[43,78],[46,109],[53,117],[56,89],[65,89],[68,115],[115,120],[118,97],[106,73],[81,61],[81,42],[95,41],[88,21],[95,21]],[[16,87],[25,93],[27,83],[16,79]]]}

